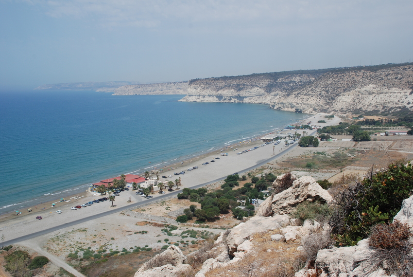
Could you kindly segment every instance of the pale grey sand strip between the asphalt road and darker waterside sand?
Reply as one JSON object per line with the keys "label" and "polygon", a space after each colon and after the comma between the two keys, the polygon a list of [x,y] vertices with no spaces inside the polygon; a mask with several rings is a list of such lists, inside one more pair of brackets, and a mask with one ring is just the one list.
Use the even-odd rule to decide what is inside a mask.
{"label": "pale grey sand strip between the asphalt road and darker waterside sand", "polygon": [[[323,117],[324,115],[325,114],[312,115],[310,118],[303,120],[303,123],[307,123],[309,121],[311,121],[312,123],[317,123],[318,120],[326,120],[326,118]],[[338,124],[338,122],[340,122],[340,118],[335,117],[333,119],[326,120],[326,123],[319,123],[318,125],[321,125],[323,127],[327,125]],[[281,131],[285,133],[284,130]],[[302,131],[299,132],[302,133]],[[307,130],[307,132],[311,134],[311,132],[315,132],[315,130]],[[218,149],[218,153],[217,151],[214,151],[201,156],[192,157],[191,159],[184,161],[183,164],[176,163],[174,165],[168,166],[168,168],[173,167],[174,169],[167,170],[168,168],[164,168],[163,172],[159,174],[159,178],[161,180],[165,180],[161,178],[161,176],[172,175],[172,178],[168,178],[165,181],[174,181],[175,179],[181,177],[182,186],[180,186],[179,188],[180,190],[182,190],[185,187],[193,187],[201,184],[212,183],[236,172],[242,175],[242,173],[246,169],[250,170],[257,167],[260,163],[274,158],[274,154],[276,155],[283,152],[284,155],[291,157],[293,155],[298,156],[302,152],[299,147],[294,146],[294,148],[290,150],[292,146],[284,147],[283,143],[280,143],[278,145],[266,145],[264,147],[259,147],[254,151],[237,154],[237,152],[241,152],[242,150],[250,149],[261,144],[262,142],[260,140],[256,140],[229,146],[229,149],[223,151],[223,153],[228,153],[228,156],[221,156],[222,152]],[[233,147],[233,149],[231,149],[230,147]],[[220,159],[215,159],[217,157],[219,157]],[[280,157],[277,157],[275,161],[282,158],[283,156],[281,155]],[[211,162],[211,160],[214,160],[215,162]],[[202,164],[205,162],[209,162],[209,164],[203,166]],[[186,171],[184,175],[173,175],[173,172],[180,172],[193,166],[198,166],[198,169],[193,171]],[[168,193],[169,192],[167,191],[166,195],[168,195]],[[5,245],[9,240],[13,240],[37,231],[45,230],[52,226],[65,224],[91,215],[97,215],[111,209],[130,205],[131,203],[139,205],[146,203],[147,201],[139,195],[136,195],[135,191],[129,190],[122,192],[120,196],[116,197],[114,202],[114,205],[116,205],[115,207],[111,207],[111,203],[109,201],[105,201],[102,203],[95,203],[91,206],[87,206],[86,208],[70,210],[70,207],[72,206],[80,205],[82,203],[101,198],[99,195],[92,195],[88,192],[79,193],[76,194],[76,196],[78,196],[79,199],[72,199],[69,203],[56,203],[55,207],[52,207],[52,203],[42,203],[41,205],[37,205],[37,208],[32,207],[33,212],[30,213],[27,213],[27,210],[24,210],[21,211],[21,215],[10,213],[0,217],[0,234],[3,234],[5,236]],[[162,197],[161,194],[154,194],[153,196],[153,200]],[[66,200],[68,199],[69,198],[66,198]],[[131,202],[128,202],[129,199],[131,200]],[[45,207],[46,209],[41,210],[41,208],[43,207]],[[62,210],[62,213],[57,214],[56,210]],[[108,215],[101,220],[111,221],[112,219],[118,217],[118,215],[119,213]],[[42,220],[36,220],[36,216],[41,216]],[[81,226],[82,224],[79,225]],[[69,228],[76,228],[76,226]]]}

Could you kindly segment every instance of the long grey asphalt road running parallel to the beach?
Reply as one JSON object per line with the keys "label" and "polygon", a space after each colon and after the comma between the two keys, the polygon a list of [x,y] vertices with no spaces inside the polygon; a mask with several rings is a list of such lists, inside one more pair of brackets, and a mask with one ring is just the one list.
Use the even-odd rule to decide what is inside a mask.
{"label": "long grey asphalt road running parallel to the beach", "polygon": [[[316,131],[313,131],[309,135],[314,135],[315,132]],[[271,158],[263,159],[262,161],[259,161],[256,165],[250,166],[250,167],[245,168],[245,169],[242,169],[241,171],[238,171],[238,173],[241,174],[243,172],[246,172],[246,171],[249,171],[251,169],[257,168],[259,166],[263,166],[263,165],[267,164],[268,162],[271,162],[272,160],[274,160],[274,159],[276,159],[276,158],[278,158],[282,155],[285,155],[287,152],[293,150],[296,147],[298,147],[298,144],[294,143],[293,145],[283,149],[278,154],[272,155]],[[221,178],[215,179],[213,181],[208,181],[208,182],[203,183],[203,184],[190,186],[189,188],[197,189],[197,188],[203,187],[203,186],[208,185],[208,184],[212,184],[212,183],[215,183],[215,182],[218,182],[218,181],[222,181],[222,180],[226,179],[226,177],[227,176],[222,176]],[[17,242],[20,242],[20,241],[23,241],[23,240],[33,239],[33,238],[36,238],[38,236],[46,235],[46,234],[52,233],[54,231],[58,231],[58,230],[63,229],[63,228],[67,228],[67,227],[77,225],[77,224],[80,224],[80,223],[83,223],[83,222],[87,222],[87,221],[90,221],[90,220],[98,219],[98,218],[101,218],[101,217],[104,217],[104,216],[107,216],[107,215],[110,215],[110,214],[118,213],[118,212],[121,212],[121,211],[126,210],[126,209],[137,208],[137,207],[140,207],[140,206],[149,205],[149,204],[157,202],[157,201],[166,200],[166,199],[169,199],[171,197],[176,196],[181,191],[182,190],[176,190],[176,191],[173,191],[173,192],[168,193],[168,194],[159,195],[155,198],[143,200],[139,203],[132,203],[132,204],[129,204],[129,205],[121,206],[119,208],[113,208],[109,211],[105,211],[105,212],[98,213],[98,214],[95,214],[95,215],[87,216],[87,217],[84,217],[82,219],[74,220],[72,222],[67,222],[67,223],[64,223],[64,224],[56,225],[56,226],[53,226],[53,227],[48,228],[48,229],[44,229],[44,230],[37,231],[37,232],[31,233],[31,234],[28,234],[28,235],[25,235],[25,236],[15,238],[13,240],[4,241],[4,245],[10,245],[10,244],[14,244],[14,243],[17,243]]]}

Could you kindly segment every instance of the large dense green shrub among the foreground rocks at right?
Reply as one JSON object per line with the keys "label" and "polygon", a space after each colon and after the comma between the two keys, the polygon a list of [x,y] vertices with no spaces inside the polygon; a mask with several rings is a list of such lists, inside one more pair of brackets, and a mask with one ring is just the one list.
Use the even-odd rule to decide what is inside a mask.
{"label": "large dense green shrub among the foreground rocks at right", "polygon": [[350,186],[338,197],[330,220],[338,245],[355,245],[376,224],[389,224],[413,191],[413,168],[409,163],[391,164]]}

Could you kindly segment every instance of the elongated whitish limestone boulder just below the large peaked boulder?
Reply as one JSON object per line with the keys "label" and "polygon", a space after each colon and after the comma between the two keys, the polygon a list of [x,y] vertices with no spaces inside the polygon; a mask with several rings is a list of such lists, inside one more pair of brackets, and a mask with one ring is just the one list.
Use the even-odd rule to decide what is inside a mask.
{"label": "elongated whitish limestone boulder just below the large peaked boulder", "polygon": [[279,229],[290,222],[288,215],[275,215],[272,217],[253,217],[247,222],[242,222],[232,228],[227,238],[229,254],[233,257],[238,245],[248,240],[255,233]]}

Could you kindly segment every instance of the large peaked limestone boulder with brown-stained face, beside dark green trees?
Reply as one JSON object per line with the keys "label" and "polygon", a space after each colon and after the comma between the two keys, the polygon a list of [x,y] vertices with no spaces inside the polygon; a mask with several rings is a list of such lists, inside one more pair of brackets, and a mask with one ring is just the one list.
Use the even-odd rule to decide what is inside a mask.
{"label": "large peaked limestone boulder with brown-stained face, beside dark green trees", "polygon": [[271,209],[274,214],[290,214],[299,203],[316,200],[331,203],[333,198],[313,177],[302,176],[293,186],[273,196]]}

